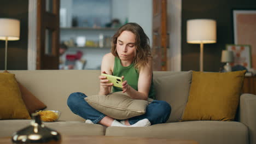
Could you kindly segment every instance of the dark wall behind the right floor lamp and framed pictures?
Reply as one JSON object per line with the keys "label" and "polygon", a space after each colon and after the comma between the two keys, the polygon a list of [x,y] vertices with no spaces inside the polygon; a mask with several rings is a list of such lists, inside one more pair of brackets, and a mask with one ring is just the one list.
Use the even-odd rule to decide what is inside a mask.
{"label": "dark wall behind the right floor lamp and framed pictures", "polygon": [[187,43],[187,20],[214,19],[217,21],[217,43],[205,44],[203,67],[205,71],[218,71],[221,52],[225,44],[234,43],[232,9],[256,9],[254,0],[183,0],[182,1],[182,70],[199,70],[199,44]]}

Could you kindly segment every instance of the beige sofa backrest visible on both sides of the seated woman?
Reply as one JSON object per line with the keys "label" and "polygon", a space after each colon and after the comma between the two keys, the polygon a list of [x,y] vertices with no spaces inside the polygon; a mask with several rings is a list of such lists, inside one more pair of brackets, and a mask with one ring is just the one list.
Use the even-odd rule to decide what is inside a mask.
{"label": "beige sofa backrest visible on both sides of the seated woman", "polygon": [[[73,92],[86,95],[100,90],[100,70],[9,70],[16,79],[47,105],[46,110],[61,111],[60,121],[84,121],[67,106],[67,98]],[[172,107],[168,122],[177,122],[187,104],[191,71],[154,71],[156,98],[165,100]]]}

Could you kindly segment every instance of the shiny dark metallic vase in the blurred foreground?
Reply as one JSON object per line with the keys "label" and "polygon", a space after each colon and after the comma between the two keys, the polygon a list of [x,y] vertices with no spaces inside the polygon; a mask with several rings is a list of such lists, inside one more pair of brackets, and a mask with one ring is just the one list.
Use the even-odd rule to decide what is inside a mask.
{"label": "shiny dark metallic vase in the blurred foreground", "polygon": [[38,113],[32,113],[32,121],[13,134],[13,143],[61,143],[61,135],[56,130],[45,127]]}

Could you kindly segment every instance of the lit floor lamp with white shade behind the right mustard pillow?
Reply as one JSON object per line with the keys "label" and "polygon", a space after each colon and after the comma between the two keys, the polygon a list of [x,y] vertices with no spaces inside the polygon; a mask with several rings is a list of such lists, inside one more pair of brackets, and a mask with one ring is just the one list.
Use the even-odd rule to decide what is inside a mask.
{"label": "lit floor lamp with white shade behind the right mustard pillow", "polygon": [[203,44],[216,43],[216,21],[211,19],[188,20],[187,43],[200,44],[200,71],[203,71]]}

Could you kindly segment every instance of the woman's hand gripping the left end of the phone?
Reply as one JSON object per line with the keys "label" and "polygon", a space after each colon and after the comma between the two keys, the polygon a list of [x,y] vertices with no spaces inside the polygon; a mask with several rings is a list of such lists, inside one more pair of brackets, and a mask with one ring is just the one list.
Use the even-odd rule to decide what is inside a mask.
{"label": "woman's hand gripping the left end of the phone", "polygon": [[[107,74],[106,71],[102,71],[103,74]],[[100,79],[100,94],[107,95],[110,93],[110,89],[113,86],[113,83],[108,83],[107,76],[100,75],[98,76],[98,79]]]}

